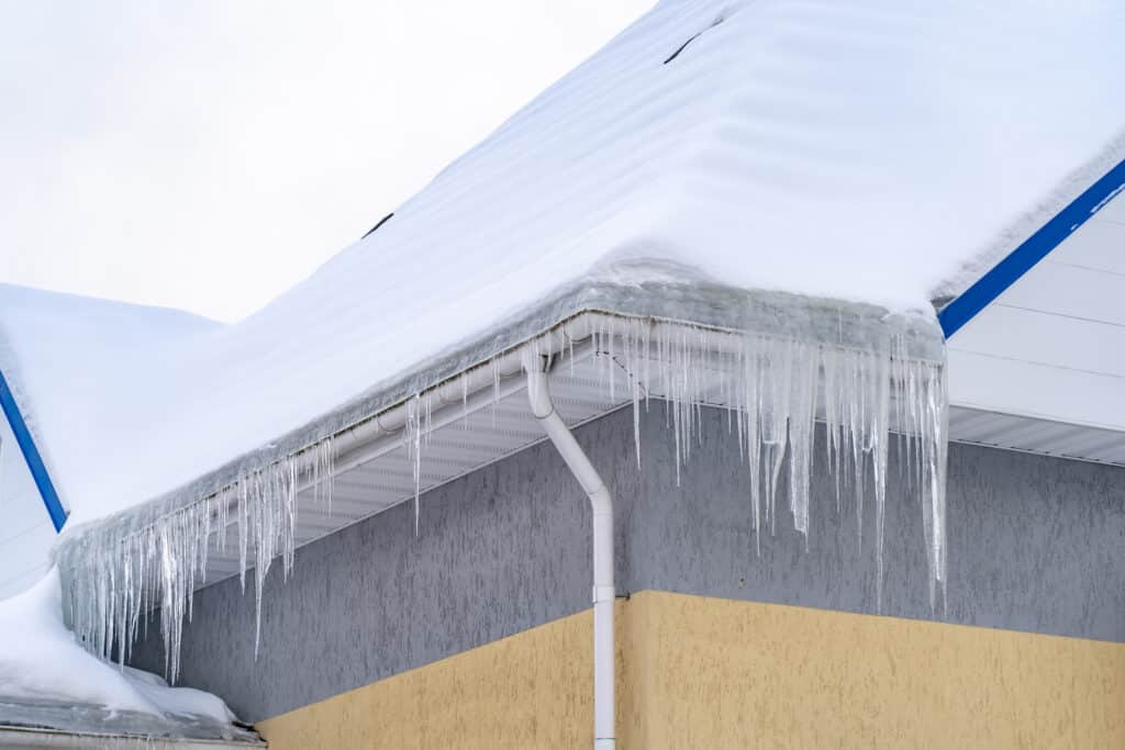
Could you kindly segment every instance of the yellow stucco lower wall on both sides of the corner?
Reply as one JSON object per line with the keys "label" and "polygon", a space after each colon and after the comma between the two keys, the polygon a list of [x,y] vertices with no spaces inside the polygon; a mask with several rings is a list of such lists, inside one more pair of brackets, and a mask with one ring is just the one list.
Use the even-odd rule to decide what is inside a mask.
{"label": "yellow stucco lower wall on both sides of the corner", "polygon": [[[645,591],[622,748],[1125,748],[1125,645]],[[274,750],[590,747],[590,613],[262,722]]]}

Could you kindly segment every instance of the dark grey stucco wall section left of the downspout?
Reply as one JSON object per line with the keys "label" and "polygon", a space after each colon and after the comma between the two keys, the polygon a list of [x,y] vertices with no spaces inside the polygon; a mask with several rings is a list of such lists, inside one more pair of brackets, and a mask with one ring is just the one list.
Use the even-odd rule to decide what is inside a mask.
{"label": "dark grey stucco wall section left of the downspout", "polygon": [[[600,467],[632,466],[621,415],[583,431]],[[608,479],[606,481],[611,481]],[[638,494],[636,470],[612,489]],[[590,606],[588,500],[541,444],[297,551],[263,590],[254,659],[253,584],[196,594],[181,683],[256,722]],[[619,563],[618,569],[622,569]],[[160,671],[158,635],[134,661]]]}

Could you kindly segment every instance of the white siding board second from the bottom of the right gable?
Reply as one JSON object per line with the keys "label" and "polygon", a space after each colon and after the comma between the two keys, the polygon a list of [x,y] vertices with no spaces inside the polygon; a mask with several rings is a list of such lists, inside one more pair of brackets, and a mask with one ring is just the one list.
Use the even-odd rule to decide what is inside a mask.
{"label": "white siding board second from the bottom of the right gable", "polygon": [[950,349],[1125,377],[1125,327],[1004,305],[970,320]]}

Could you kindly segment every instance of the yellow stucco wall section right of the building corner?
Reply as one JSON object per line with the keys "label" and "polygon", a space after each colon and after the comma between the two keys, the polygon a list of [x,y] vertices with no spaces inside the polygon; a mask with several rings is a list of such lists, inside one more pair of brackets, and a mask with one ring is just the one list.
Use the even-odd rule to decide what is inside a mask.
{"label": "yellow stucco wall section right of the building corner", "polygon": [[1125,747],[1118,643],[657,591],[636,606],[623,748]]}

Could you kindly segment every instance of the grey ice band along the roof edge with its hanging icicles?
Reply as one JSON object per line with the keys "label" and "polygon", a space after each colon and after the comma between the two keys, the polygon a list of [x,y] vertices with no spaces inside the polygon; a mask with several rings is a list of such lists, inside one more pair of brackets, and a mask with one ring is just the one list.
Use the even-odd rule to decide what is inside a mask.
{"label": "grey ice band along the roof edge with its hanging icicles", "polygon": [[[791,455],[790,510],[798,528],[807,531],[807,473],[811,458],[807,444],[811,445],[816,416],[816,403],[809,399],[814,399],[816,379],[822,371],[828,386],[824,406],[834,435],[829,461],[837,477],[846,473],[850,478],[858,508],[862,509],[868,482],[874,494],[880,595],[888,409],[893,379],[896,408],[901,410],[898,421],[918,435],[910,441],[916,450],[908,451],[908,455],[914,486],[922,497],[932,602],[938,598],[944,602],[947,406],[944,340],[933,316],[889,315],[870,305],[784,292],[747,292],[667,266],[658,269],[659,280],[651,280],[651,271],[646,274],[650,280],[639,283],[622,283],[603,274],[596,282],[575,284],[531,314],[411,368],[403,377],[372,388],[325,417],[186,487],[70,530],[55,557],[69,599],[69,621],[80,640],[106,658],[114,654],[115,643],[124,644],[125,648],[116,649],[116,654],[127,660],[129,645],[147,629],[147,618],[142,614],[158,607],[165,639],[165,671],[174,679],[179,671],[183,618],[191,616],[191,591],[206,568],[207,542],[212,531],[226,528],[228,513],[235,514],[240,532],[243,582],[246,568],[252,566],[255,570],[255,609],[260,622],[261,584],[270,561],[281,557],[286,575],[292,564],[298,487],[307,478],[331,476],[333,435],[390,406],[414,399],[415,406],[410,409],[413,432],[410,424],[404,432],[407,437],[416,439],[420,422],[429,412],[417,406],[420,394],[513,347],[534,347],[536,337],[543,332],[565,326],[567,319],[591,310],[610,314],[600,319],[614,319],[615,329],[624,332],[621,338],[610,336],[609,328],[601,334],[595,331],[595,337],[602,337],[603,349],[612,351],[612,342],[621,338],[619,358],[639,362],[642,349],[649,354],[659,350],[659,356],[678,358],[677,368],[685,374],[680,382],[666,383],[666,396],[674,404],[673,434],[682,458],[690,453],[696,421],[698,399],[693,388],[698,383],[693,382],[691,371],[701,362],[692,360],[691,351],[702,338],[693,333],[675,341],[667,337],[651,341],[647,332],[654,320],[680,322],[680,329],[700,335],[704,327],[749,332],[738,334],[742,353],[735,359],[741,356],[741,363],[732,361],[736,370],[732,382],[738,387],[731,387],[730,396],[738,401],[738,440],[757,449],[748,451],[752,472],[759,476],[764,469],[770,470],[770,479],[760,478],[752,491],[758,528],[776,522],[771,487],[776,485],[784,458]],[[638,278],[631,272],[622,277]],[[747,364],[750,361],[756,364]],[[762,368],[774,376],[772,381],[784,383],[784,389],[770,386],[773,390],[749,394],[750,380],[759,385],[763,381]],[[775,372],[776,368],[782,369]],[[778,378],[777,372],[785,374]],[[606,372],[608,387],[612,386],[610,373],[612,369]],[[792,382],[800,387],[791,388]],[[636,404],[636,389],[633,398]],[[755,401],[753,408],[750,400]],[[414,453],[417,457],[418,451]],[[323,495],[331,494],[330,485],[323,486]],[[806,488],[803,499],[799,497],[801,487]],[[793,488],[798,488],[795,495]],[[226,544],[226,540],[220,539],[220,543]]]}

